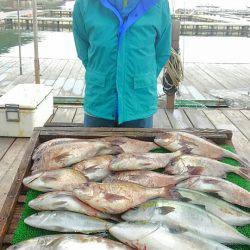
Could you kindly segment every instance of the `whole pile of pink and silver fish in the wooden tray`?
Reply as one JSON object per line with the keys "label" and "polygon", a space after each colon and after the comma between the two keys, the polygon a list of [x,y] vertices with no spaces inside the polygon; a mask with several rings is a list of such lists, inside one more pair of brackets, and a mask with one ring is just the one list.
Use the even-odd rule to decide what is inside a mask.
{"label": "whole pile of pink and silver fish in the wooden tray", "polygon": [[[151,152],[159,147],[171,153]],[[224,157],[241,166],[218,161]],[[35,150],[33,161],[23,184],[44,194],[29,202],[38,213],[25,223],[62,234],[9,249],[250,245],[235,228],[250,224],[250,214],[240,208],[250,208],[250,192],[224,179],[232,172],[249,181],[250,164],[206,139],[185,132],[164,133],[154,142],[54,139]]]}

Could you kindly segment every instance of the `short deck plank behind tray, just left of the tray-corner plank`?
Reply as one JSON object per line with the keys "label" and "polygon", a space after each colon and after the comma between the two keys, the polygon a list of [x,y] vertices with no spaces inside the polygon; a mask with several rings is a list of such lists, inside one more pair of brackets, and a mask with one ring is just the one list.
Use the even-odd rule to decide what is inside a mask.
{"label": "short deck plank behind tray, just left of the tray-corner plank", "polygon": [[210,122],[202,110],[185,109],[184,112],[195,128],[214,129],[214,125]]}

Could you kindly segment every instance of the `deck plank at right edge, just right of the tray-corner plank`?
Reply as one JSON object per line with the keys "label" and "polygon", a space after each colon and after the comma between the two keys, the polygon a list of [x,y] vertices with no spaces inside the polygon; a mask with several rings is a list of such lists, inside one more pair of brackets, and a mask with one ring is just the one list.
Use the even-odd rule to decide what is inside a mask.
{"label": "deck plank at right edge, just right of the tray-corner plank", "polygon": [[223,109],[222,112],[250,140],[250,121],[239,110]]}

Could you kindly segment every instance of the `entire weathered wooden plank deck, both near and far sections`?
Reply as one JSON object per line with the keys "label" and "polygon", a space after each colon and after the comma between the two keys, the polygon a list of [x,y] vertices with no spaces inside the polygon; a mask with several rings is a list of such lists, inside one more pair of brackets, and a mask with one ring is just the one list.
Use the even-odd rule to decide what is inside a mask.
{"label": "entire weathered wooden plank deck, both near and far sections", "polygon": [[[41,82],[52,86],[55,96],[81,97],[84,93],[84,68],[79,60],[41,59]],[[17,84],[33,83],[31,58],[23,60],[24,74],[19,75],[17,58],[0,57],[0,95]],[[250,64],[186,63],[185,79],[179,99],[211,99],[211,89],[249,89]],[[159,96],[163,94],[159,84]],[[82,107],[56,107],[52,123],[82,123]],[[154,117],[155,128],[217,128],[233,131],[237,152],[250,156],[250,110],[233,109],[159,109]],[[0,210],[25,152],[28,139],[0,138]],[[1,218],[0,218],[1,219]]]}

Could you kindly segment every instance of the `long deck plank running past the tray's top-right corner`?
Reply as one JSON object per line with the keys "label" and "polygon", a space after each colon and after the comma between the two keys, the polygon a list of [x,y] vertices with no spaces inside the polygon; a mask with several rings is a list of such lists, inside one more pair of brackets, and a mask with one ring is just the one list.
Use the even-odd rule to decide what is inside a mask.
{"label": "long deck plank running past the tray's top-right corner", "polygon": [[239,129],[220,110],[204,109],[203,112],[217,129],[229,129],[233,131],[232,143],[236,152],[248,159],[250,155],[250,142]]}

